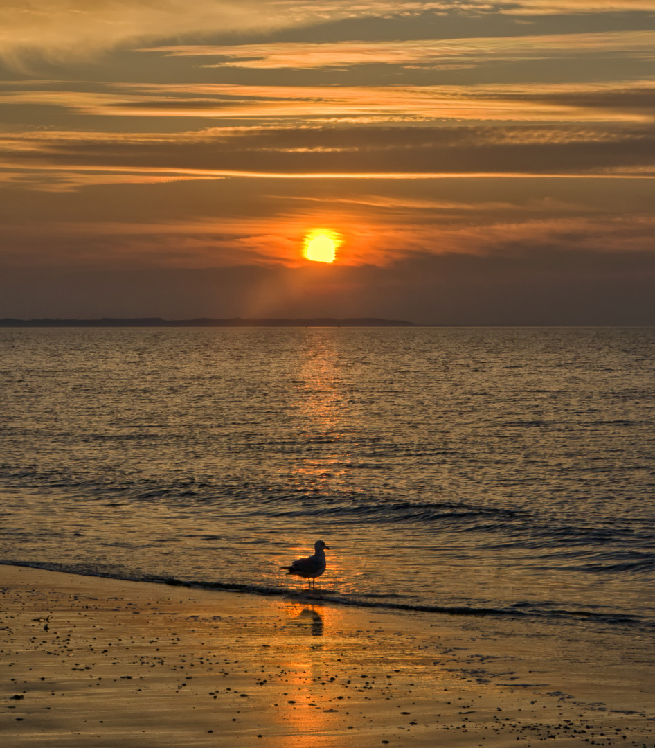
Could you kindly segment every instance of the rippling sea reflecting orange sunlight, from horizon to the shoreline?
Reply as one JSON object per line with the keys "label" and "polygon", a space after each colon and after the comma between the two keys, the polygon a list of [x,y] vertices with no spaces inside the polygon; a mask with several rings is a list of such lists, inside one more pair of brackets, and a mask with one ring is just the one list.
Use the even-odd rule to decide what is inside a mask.
{"label": "rippling sea reflecting orange sunlight, from horizon to the shoreline", "polygon": [[655,626],[652,328],[0,331],[0,561]]}

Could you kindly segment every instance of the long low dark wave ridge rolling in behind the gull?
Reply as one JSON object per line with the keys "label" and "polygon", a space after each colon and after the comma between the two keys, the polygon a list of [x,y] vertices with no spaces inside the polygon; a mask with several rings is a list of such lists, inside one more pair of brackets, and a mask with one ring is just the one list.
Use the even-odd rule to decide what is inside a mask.
{"label": "long low dark wave ridge rolling in behind the gull", "polygon": [[[533,560],[541,561],[542,568],[605,575],[655,571],[652,518],[643,511],[641,516],[634,512],[621,515],[610,525],[593,511],[573,516],[569,510],[560,516],[543,503],[519,508],[470,500],[400,500],[373,496],[368,491],[307,491],[304,487],[247,480],[219,483],[218,479],[187,478],[164,482],[135,476],[103,480],[84,479],[73,470],[17,470],[7,482],[20,486],[20,491],[37,490],[71,504],[161,505],[174,512],[190,510],[199,518],[204,512],[215,512],[226,521],[256,524],[320,522],[324,533],[338,533],[348,526],[388,524],[407,527],[412,533],[456,533],[462,542],[476,542],[485,552],[494,554],[528,551]],[[570,551],[572,557],[568,557]],[[602,557],[606,551],[608,557]],[[625,557],[627,551],[643,556]]]}

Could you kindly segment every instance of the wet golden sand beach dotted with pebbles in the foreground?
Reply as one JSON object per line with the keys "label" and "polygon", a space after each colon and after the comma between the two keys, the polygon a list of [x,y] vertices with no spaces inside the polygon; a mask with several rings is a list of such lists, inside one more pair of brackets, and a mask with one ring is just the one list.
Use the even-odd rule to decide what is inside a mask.
{"label": "wet golden sand beach dotted with pebbles in the foreground", "polygon": [[553,671],[537,631],[6,565],[0,590],[7,748],[655,747],[652,693]]}

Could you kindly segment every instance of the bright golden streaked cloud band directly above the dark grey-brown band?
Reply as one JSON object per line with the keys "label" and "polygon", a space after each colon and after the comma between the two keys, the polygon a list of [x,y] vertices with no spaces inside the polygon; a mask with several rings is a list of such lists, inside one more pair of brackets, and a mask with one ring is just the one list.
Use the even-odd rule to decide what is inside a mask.
{"label": "bright golden streaked cloud band directly above the dark grey-brown band", "polygon": [[651,80],[587,84],[266,86],[115,84],[102,91],[34,87],[4,91],[0,103],[49,105],[77,114],[215,120],[408,120],[650,123]]}

